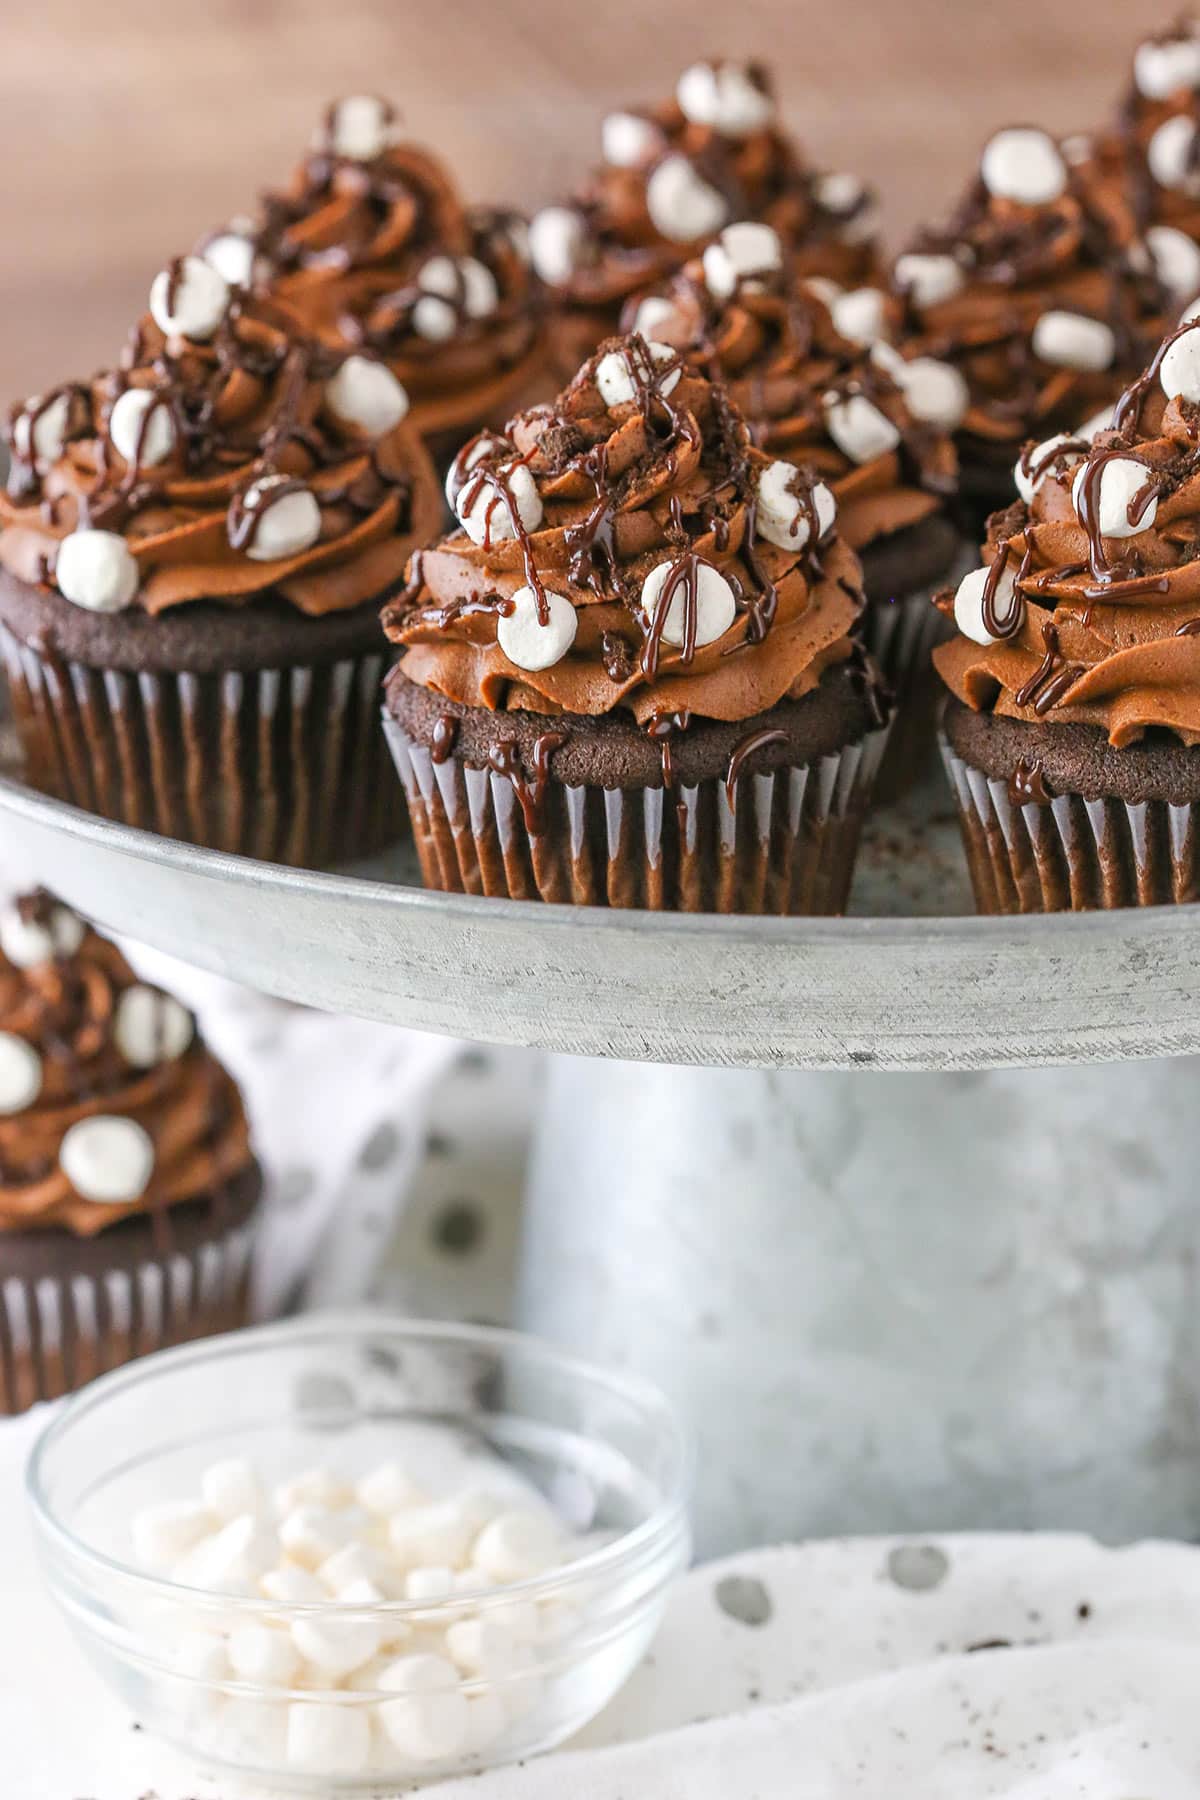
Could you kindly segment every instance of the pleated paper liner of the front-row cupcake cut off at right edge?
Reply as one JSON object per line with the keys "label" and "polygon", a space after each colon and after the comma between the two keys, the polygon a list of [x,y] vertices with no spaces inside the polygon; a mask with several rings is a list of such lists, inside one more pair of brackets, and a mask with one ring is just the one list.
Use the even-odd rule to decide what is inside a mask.
{"label": "pleated paper liner of the front-row cupcake cut off at right edge", "polygon": [[941,740],[981,913],[1079,913],[1200,900],[1200,803],[1011,799]]}

